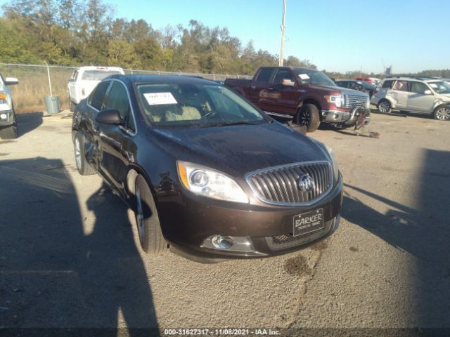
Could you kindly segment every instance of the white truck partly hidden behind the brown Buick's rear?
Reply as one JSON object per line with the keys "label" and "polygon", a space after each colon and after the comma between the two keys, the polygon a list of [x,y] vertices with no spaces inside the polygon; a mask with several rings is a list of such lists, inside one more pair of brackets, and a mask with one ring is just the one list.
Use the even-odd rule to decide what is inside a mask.
{"label": "white truck partly hidden behind the brown Buick's rear", "polygon": [[68,83],[70,111],[73,112],[75,105],[86,98],[102,79],[114,74],[124,74],[124,70],[119,67],[94,66],[75,70]]}

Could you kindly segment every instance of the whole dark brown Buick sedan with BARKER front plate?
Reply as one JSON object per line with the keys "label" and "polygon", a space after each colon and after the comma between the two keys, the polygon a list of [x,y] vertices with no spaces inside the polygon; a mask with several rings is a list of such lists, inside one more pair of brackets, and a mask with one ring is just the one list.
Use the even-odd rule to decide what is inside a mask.
{"label": "whole dark brown Buick sedan with BARKER front plate", "polygon": [[333,152],[216,82],[115,75],[75,110],[79,173],[127,201],[147,253],[260,258],[338,227]]}

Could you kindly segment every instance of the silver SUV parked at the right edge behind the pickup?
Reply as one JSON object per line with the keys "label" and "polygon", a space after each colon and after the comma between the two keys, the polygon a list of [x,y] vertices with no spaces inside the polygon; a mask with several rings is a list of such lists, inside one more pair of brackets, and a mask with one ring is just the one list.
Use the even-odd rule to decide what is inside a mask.
{"label": "silver SUV parked at the right edge behind the pickup", "polygon": [[435,119],[447,121],[450,119],[450,84],[442,79],[383,79],[373,92],[371,104],[383,113],[401,110],[432,114]]}

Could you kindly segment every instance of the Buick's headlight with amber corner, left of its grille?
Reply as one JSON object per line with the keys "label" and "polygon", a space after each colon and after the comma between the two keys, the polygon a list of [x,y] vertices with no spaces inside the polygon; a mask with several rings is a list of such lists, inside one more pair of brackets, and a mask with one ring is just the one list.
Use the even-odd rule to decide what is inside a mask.
{"label": "Buick's headlight with amber corner, left of its grille", "polygon": [[186,161],[176,164],[181,183],[191,192],[213,199],[248,203],[247,194],[224,173]]}

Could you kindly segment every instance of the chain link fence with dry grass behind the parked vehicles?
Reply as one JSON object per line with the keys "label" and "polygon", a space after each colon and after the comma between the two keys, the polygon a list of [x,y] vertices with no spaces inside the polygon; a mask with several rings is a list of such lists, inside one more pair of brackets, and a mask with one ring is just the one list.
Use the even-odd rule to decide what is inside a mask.
{"label": "chain link fence with dry grass behind the parked vehicles", "polygon": [[[24,65],[0,63],[0,74],[6,77],[17,77],[18,86],[11,86],[14,107],[16,112],[37,112],[45,110],[45,96],[59,96],[60,108],[69,108],[68,81],[72,72],[78,67],[64,67],[57,65]],[[50,81],[47,71],[50,72]],[[248,75],[239,74],[201,74],[194,72],[164,72],[159,70],[126,69],[125,74],[157,74],[195,76],[212,81],[224,81],[228,77],[251,79]],[[50,90],[51,85],[51,90]]]}

